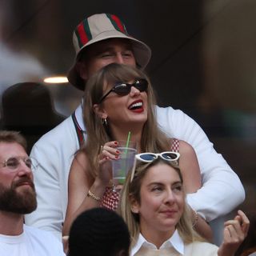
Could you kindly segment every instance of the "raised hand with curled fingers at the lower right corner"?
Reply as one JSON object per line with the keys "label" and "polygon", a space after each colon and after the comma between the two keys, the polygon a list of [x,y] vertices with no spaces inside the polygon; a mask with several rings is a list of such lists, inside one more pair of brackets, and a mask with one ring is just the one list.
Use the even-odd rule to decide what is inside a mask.
{"label": "raised hand with curled fingers at the lower right corner", "polygon": [[218,249],[218,256],[233,256],[249,230],[250,221],[242,210],[233,220],[224,223],[223,242]]}

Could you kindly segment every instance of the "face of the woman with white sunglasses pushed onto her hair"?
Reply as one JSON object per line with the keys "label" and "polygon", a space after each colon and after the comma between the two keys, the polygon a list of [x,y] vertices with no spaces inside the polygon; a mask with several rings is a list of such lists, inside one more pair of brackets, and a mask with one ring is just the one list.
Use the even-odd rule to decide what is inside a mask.
{"label": "face of the woman with white sunglasses pushed onto her hair", "polygon": [[134,202],[132,211],[140,216],[140,229],[145,238],[152,234],[170,237],[182,216],[184,204],[182,182],[177,171],[159,163],[146,171],[141,184],[140,203]]}

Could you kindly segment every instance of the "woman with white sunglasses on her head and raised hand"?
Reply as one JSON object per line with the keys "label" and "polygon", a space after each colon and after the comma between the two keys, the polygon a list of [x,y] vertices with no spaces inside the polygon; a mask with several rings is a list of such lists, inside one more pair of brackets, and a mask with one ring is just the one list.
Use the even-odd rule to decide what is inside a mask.
{"label": "woman with white sunglasses on her head and raised hand", "polygon": [[138,154],[136,159],[120,199],[131,236],[131,256],[234,256],[249,229],[241,210],[225,223],[218,248],[192,228],[178,165],[162,154]]}

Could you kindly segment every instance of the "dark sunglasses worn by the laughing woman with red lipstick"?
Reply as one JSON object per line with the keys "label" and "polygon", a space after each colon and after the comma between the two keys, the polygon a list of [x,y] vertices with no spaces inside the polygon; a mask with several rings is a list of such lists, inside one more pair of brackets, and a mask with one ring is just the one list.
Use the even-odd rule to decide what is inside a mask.
{"label": "dark sunglasses worn by the laughing woman with red lipstick", "polygon": [[114,85],[114,87],[109,90],[102,98],[99,100],[98,104],[101,103],[108,94],[111,92],[114,92],[118,94],[119,96],[125,96],[127,94],[130,94],[131,87],[134,86],[136,89],[138,89],[140,92],[146,91],[148,82],[146,79],[137,79],[134,83],[127,83],[127,82],[118,82]]}

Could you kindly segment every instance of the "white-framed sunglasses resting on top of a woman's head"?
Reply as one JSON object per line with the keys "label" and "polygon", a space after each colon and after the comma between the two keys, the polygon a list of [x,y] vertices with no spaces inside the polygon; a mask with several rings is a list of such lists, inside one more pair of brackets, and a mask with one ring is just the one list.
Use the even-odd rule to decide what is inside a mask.
{"label": "white-framed sunglasses resting on top of a woman's head", "polygon": [[136,154],[135,158],[134,158],[133,170],[131,171],[131,175],[130,175],[130,182],[132,182],[134,179],[137,160],[141,161],[141,162],[154,162],[154,160],[158,159],[159,157],[165,161],[174,162],[174,161],[178,161],[180,154],[178,152],[174,152],[174,151],[165,151],[162,153],[147,152],[147,153],[142,153],[142,154]]}

